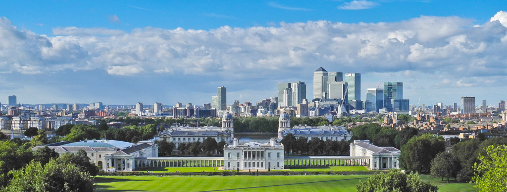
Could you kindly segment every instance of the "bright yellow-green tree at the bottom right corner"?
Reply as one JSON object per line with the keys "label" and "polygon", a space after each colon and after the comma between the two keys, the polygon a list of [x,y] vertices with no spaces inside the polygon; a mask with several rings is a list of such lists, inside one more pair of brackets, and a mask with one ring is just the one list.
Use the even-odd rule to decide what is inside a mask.
{"label": "bright yellow-green tree at the bottom right corner", "polygon": [[486,155],[479,156],[480,163],[475,164],[478,172],[472,179],[479,191],[507,191],[507,146],[492,145],[486,148]]}

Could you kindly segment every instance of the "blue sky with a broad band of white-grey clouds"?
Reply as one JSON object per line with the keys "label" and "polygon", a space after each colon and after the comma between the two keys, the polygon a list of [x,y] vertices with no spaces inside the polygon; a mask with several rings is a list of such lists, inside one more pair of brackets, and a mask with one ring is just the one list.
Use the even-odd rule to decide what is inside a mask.
{"label": "blue sky with a broad band of white-grey clouds", "polygon": [[[0,102],[134,105],[276,97],[313,72],[361,73],[361,99],[507,100],[504,1],[8,1]],[[382,87],[382,85],[381,85]]]}

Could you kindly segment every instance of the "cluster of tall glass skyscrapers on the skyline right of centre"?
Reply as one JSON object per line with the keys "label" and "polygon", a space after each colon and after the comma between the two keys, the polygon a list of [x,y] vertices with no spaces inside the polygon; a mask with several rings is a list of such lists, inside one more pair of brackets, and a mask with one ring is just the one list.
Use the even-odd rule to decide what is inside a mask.
{"label": "cluster of tall glass skyscrapers on the skyline right of centre", "polygon": [[313,72],[313,99],[306,98],[304,82],[278,83],[278,109],[298,117],[410,110],[409,100],[403,99],[402,82],[380,86],[368,88],[366,100],[361,100],[360,73],[328,72],[319,67]]}

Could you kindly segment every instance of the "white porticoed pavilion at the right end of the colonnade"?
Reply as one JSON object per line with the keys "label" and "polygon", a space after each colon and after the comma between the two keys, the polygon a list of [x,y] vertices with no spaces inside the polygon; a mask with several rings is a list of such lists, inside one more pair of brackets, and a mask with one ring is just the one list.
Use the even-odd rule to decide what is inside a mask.
{"label": "white porticoed pavilion at the right end of the colonnade", "polygon": [[370,157],[370,169],[399,169],[400,150],[393,147],[377,147],[370,140],[354,140],[350,143],[350,156]]}

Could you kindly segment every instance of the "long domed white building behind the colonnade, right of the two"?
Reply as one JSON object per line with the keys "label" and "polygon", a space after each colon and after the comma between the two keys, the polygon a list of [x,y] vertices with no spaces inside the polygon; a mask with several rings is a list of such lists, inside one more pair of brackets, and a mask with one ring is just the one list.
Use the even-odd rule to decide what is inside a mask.
{"label": "long domed white building behind the colonnade, right of the two", "polygon": [[291,118],[286,112],[283,112],[278,119],[278,139],[283,139],[287,134],[293,134],[296,138],[306,137],[308,140],[319,138],[321,140],[340,141],[352,138],[352,132],[342,126],[299,125],[291,128]]}

